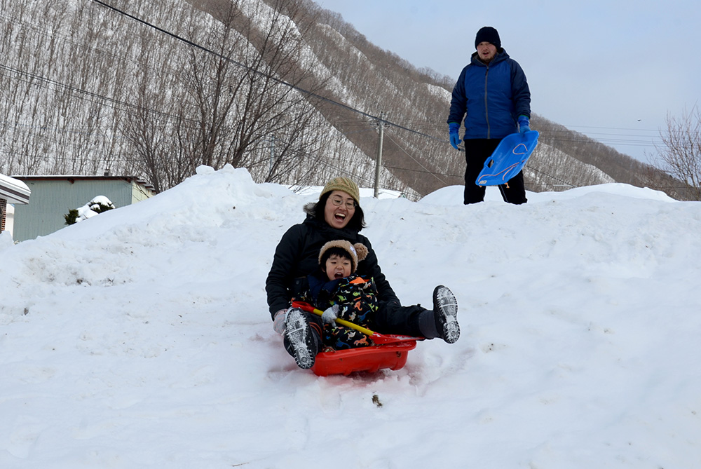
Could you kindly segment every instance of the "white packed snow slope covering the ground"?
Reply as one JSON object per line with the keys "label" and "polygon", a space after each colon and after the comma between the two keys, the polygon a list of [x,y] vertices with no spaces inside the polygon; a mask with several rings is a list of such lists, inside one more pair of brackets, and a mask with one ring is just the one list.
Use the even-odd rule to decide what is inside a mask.
{"label": "white packed snow slope covering the ground", "polygon": [[318,191],[199,168],[50,236],[3,233],[0,467],[700,467],[701,203],[488,193],[362,191],[402,302],[447,285],[461,337],[351,376],[299,369],[266,305]]}

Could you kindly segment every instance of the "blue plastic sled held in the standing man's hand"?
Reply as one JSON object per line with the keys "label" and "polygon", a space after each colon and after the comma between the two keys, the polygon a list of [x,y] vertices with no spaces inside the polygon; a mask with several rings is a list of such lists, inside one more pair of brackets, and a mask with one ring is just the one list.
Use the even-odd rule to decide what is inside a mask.
{"label": "blue plastic sled held in the standing man's hand", "polygon": [[484,162],[484,168],[479,173],[475,184],[478,186],[505,184],[526,165],[536,145],[538,145],[537,130],[530,130],[523,135],[519,133],[507,135]]}

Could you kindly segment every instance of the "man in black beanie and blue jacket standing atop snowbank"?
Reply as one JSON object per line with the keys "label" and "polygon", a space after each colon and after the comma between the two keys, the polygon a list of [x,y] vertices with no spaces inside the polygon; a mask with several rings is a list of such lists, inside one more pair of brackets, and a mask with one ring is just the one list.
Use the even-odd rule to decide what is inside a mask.
{"label": "man in black beanie and blue jacket standing atop snowbank", "polygon": [[[458,149],[458,130],[465,118],[465,205],[484,200],[485,188],[475,181],[484,161],[503,137],[531,130],[531,91],[526,75],[501,48],[496,29],[489,26],[479,29],[475,48],[477,52],[472,54],[453,89],[447,121],[450,144]],[[526,203],[523,171],[499,189],[505,202]]]}

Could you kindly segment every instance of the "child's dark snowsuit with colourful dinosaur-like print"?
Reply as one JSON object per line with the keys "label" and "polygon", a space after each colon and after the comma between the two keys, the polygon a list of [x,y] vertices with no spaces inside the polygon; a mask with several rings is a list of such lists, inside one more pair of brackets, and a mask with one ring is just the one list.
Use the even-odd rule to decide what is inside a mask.
{"label": "child's dark snowsuit with colourful dinosaur-like print", "polygon": [[[321,310],[337,304],[339,319],[372,328],[372,319],[378,308],[377,292],[372,279],[363,280],[357,275],[351,275],[340,280],[327,281],[320,287],[318,278],[315,282],[313,276],[309,276],[309,280],[311,291],[305,295],[306,301],[311,300]],[[362,332],[335,323],[324,325],[322,341],[324,346],[330,346],[336,350],[372,345],[369,337]]]}

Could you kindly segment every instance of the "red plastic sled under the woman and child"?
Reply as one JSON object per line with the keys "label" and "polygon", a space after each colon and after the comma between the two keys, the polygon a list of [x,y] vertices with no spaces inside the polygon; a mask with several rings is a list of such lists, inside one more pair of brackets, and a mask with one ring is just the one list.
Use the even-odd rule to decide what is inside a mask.
{"label": "red plastic sled under the woman and child", "polygon": [[410,350],[416,348],[416,341],[396,342],[395,344],[351,348],[316,355],[311,370],[317,376],[353,372],[374,373],[379,369],[401,369],[407,363]]}

